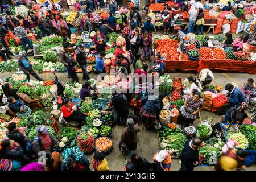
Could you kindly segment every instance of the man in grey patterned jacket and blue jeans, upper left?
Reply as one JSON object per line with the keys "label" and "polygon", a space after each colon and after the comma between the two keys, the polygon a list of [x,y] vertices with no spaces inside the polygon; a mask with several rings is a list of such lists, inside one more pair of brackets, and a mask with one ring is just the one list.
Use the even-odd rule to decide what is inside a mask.
{"label": "man in grey patterned jacket and blue jeans, upper left", "polygon": [[20,39],[20,42],[22,42],[22,46],[24,51],[27,53],[27,44],[30,49],[33,49],[31,40],[27,38],[27,32],[26,30],[20,26],[20,23],[16,23],[16,28],[14,28],[14,33],[18,38]]}

